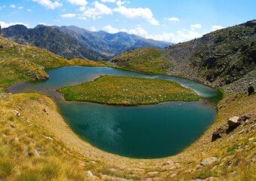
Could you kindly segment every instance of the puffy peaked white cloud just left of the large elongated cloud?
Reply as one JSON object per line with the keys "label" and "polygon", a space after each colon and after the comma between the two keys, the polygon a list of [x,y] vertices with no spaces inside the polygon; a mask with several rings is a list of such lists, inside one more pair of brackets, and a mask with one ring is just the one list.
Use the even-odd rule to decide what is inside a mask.
{"label": "puffy peaked white cloud just left of the large elongated cloud", "polygon": [[91,17],[94,20],[96,20],[97,18],[102,17],[101,15],[105,15],[105,14],[106,15],[113,14],[113,12],[106,5],[103,5],[99,2],[94,2],[94,8],[87,8],[83,12],[82,16],[79,18],[86,20],[87,17]]}

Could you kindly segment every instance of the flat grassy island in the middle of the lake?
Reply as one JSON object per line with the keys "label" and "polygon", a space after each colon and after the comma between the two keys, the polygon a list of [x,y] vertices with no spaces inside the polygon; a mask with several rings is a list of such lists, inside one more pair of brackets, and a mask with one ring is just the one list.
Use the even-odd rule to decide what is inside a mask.
{"label": "flat grassy island in the middle of the lake", "polygon": [[66,100],[113,105],[154,104],[199,100],[193,90],[173,81],[104,75],[94,81],[59,89]]}

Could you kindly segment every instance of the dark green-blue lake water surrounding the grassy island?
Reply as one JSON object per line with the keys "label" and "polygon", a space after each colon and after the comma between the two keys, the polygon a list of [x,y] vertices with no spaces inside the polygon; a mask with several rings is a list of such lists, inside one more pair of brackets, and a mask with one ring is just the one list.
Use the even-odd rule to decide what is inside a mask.
{"label": "dark green-blue lake water surrounding the grassy island", "polygon": [[143,75],[107,67],[63,67],[47,71],[48,81],[25,82],[10,92],[41,92],[56,97],[55,89],[91,81],[99,75],[129,75],[177,81],[208,99],[151,106],[107,106],[59,99],[61,115],[82,139],[106,152],[130,158],[162,158],[177,154],[196,141],[213,123],[216,110],[210,100],[220,94],[195,81],[165,75]]}

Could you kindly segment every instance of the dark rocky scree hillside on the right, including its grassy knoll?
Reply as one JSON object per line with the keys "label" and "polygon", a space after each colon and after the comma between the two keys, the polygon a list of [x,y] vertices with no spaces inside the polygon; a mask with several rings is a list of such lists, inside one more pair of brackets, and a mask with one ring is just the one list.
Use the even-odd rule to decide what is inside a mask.
{"label": "dark rocky scree hillside on the right, including its grassy knoll", "polygon": [[[137,50],[125,52],[110,60],[109,65],[130,69],[136,61],[137,68],[134,66],[133,70],[142,72],[140,67],[152,59],[141,60],[141,54],[163,60],[162,63],[168,66],[156,72],[223,87],[227,93],[242,93],[250,85],[256,87],[256,20],[171,45],[158,56],[147,48],[140,49],[140,54]],[[133,58],[128,60],[129,56]]]}

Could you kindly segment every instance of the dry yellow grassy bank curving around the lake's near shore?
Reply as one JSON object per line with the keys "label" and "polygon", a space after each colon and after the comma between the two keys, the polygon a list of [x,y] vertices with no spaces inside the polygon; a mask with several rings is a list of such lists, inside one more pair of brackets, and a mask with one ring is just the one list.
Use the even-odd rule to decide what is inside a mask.
{"label": "dry yellow grassy bank curving around the lake's near shore", "polygon": [[[211,143],[214,129],[224,124],[227,118],[256,113],[255,94],[250,97],[232,95],[224,98],[221,101],[222,108],[219,109],[217,121],[196,143],[178,155],[148,160],[123,158],[85,143],[69,129],[57,112],[55,103],[41,94],[5,95],[1,102],[1,124],[5,125],[1,128],[1,149],[8,147],[14,150],[12,151],[14,155],[19,155],[24,150],[29,154],[18,157],[18,164],[15,166],[11,155],[4,156],[7,160],[3,160],[2,165],[7,166],[3,170],[4,173],[0,173],[10,179],[18,176],[22,178],[21,173],[26,173],[25,176],[34,176],[32,173],[44,176],[45,172],[49,174],[48,178],[52,176],[58,180],[76,176],[86,179],[88,170],[99,179],[105,180],[120,178],[190,180],[211,176],[215,180],[255,179],[255,128],[249,130],[254,124],[255,115],[251,116],[248,124],[237,127],[230,134]],[[13,110],[20,112],[20,117],[14,115]],[[15,130],[19,127],[18,135],[22,142],[16,143],[14,135],[9,136],[13,131],[12,127],[16,127]],[[244,130],[243,133],[239,133],[241,130]],[[51,137],[53,140],[46,137]],[[235,145],[239,145],[238,149]],[[35,148],[41,150],[39,158],[35,156]],[[233,151],[228,152],[228,149]],[[217,162],[204,167],[196,166],[203,158],[211,156],[216,157]],[[72,169],[69,164],[72,164]],[[55,167],[57,170],[54,170]],[[15,174],[10,175],[10,173]]]}

